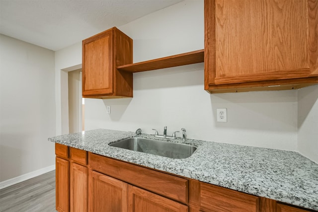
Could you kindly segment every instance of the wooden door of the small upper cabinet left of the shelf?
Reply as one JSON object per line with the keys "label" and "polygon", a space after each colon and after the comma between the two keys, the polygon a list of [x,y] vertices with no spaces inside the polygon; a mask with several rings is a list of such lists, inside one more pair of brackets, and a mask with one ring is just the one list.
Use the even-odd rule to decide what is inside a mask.
{"label": "wooden door of the small upper cabinet left of the shelf", "polygon": [[113,92],[113,31],[107,30],[82,42],[82,95]]}

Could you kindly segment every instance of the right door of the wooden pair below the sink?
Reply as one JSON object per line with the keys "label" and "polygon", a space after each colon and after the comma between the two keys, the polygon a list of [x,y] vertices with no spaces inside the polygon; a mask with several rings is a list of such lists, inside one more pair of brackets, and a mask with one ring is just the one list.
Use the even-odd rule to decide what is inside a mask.
{"label": "right door of the wooden pair below the sink", "polygon": [[129,185],[129,212],[188,212],[188,206]]}

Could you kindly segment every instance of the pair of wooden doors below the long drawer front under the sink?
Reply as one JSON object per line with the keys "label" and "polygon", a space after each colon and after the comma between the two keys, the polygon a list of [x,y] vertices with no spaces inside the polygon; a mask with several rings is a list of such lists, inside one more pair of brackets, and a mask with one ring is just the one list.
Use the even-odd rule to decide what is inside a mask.
{"label": "pair of wooden doors below the long drawer front under the sink", "polygon": [[89,212],[188,212],[188,206],[89,170]]}

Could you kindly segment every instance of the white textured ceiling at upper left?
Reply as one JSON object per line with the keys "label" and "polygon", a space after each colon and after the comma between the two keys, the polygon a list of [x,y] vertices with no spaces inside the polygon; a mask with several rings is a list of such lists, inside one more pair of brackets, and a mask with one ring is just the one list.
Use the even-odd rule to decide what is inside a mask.
{"label": "white textured ceiling at upper left", "polygon": [[0,0],[0,33],[59,50],[182,0]]}

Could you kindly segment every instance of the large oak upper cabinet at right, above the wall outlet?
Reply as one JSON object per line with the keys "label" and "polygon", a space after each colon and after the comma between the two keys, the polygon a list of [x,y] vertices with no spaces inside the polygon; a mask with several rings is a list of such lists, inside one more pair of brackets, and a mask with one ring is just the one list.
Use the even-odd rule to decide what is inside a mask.
{"label": "large oak upper cabinet at right, above the wall outlet", "polygon": [[205,89],[318,83],[318,0],[205,0]]}

